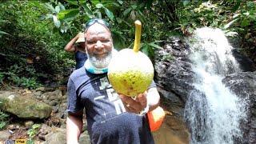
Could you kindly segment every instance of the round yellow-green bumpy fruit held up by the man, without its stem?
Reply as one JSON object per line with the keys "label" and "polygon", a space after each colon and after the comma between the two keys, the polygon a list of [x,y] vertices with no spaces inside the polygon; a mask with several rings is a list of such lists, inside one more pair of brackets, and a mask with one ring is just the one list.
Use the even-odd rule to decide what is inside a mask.
{"label": "round yellow-green bumpy fruit held up by the man, without its stem", "polygon": [[111,59],[108,78],[119,94],[135,97],[150,86],[154,78],[154,66],[146,54],[123,49]]}

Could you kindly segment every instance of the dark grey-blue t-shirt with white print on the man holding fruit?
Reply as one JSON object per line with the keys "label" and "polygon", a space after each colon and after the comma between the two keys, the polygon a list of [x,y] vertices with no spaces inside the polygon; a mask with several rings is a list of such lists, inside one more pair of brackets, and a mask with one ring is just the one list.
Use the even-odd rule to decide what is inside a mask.
{"label": "dark grey-blue t-shirt with white print on the man holding fruit", "polygon": [[70,75],[67,111],[84,108],[91,143],[154,143],[146,115],[127,113],[106,74],[91,74],[82,67]]}

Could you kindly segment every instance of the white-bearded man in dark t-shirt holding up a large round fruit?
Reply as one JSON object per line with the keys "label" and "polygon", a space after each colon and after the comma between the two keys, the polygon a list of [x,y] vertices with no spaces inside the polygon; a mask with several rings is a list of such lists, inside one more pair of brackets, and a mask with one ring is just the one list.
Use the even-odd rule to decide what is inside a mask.
{"label": "white-bearded man in dark t-shirt holding up a large round fruit", "polygon": [[67,143],[78,143],[84,109],[91,143],[154,143],[146,114],[142,114],[158,106],[154,82],[135,99],[115,93],[106,75],[115,53],[108,23],[91,19],[86,23],[85,38],[88,59],[68,82]]}

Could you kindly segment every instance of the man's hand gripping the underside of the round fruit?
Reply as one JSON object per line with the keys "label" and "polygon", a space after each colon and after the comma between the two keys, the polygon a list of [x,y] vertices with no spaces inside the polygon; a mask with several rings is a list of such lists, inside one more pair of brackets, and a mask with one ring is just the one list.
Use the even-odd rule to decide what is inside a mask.
{"label": "man's hand gripping the underside of the round fruit", "polygon": [[138,94],[136,98],[131,98],[123,94],[119,94],[119,97],[121,98],[127,112],[139,114],[146,108],[146,94],[147,92],[145,91],[143,94]]}

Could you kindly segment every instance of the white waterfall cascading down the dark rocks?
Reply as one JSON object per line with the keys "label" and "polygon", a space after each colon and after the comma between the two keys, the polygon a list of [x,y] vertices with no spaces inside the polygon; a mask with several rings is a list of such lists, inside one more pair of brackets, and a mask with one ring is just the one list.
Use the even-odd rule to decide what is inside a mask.
{"label": "white waterfall cascading down the dark rocks", "polygon": [[239,120],[245,104],[223,85],[226,74],[239,71],[222,30],[201,28],[188,40],[194,87],[185,106],[192,144],[232,144],[242,137]]}

